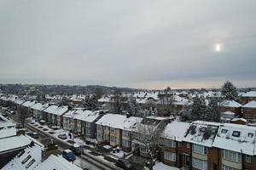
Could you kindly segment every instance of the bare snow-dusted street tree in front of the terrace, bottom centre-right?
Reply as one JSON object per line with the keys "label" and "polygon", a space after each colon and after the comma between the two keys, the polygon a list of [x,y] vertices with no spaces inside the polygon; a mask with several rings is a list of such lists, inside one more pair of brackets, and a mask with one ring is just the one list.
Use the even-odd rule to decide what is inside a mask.
{"label": "bare snow-dusted street tree in front of the terrace, bottom centre-right", "polygon": [[[141,144],[140,147],[143,147],[143,152],[148,154],[149,169],[153,170],[153,161],[154,156],[157,154],[157,151],[160,149],[160,144],[162,144],[162,139],[160,138],[162,132],[161,124],[156,126],[143,124],[141,122],[137,123],[137,127],[134,130],[133,139],[137,139]],[[140,148],[142,149],[142,148]]]}

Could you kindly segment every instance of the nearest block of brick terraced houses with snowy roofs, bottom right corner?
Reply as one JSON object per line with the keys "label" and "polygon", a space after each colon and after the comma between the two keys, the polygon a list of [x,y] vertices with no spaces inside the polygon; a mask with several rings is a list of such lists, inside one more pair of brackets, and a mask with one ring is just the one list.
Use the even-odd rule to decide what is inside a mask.
{"label": "nearest block of brick terraced houses with snowy roofs, bottom right corner", "polygon": [[201,121],[189,126],[183,123],[169,123],[162,135],[165,139],[162,161],[167,165],[202,170],[255,169],[256,127]]}

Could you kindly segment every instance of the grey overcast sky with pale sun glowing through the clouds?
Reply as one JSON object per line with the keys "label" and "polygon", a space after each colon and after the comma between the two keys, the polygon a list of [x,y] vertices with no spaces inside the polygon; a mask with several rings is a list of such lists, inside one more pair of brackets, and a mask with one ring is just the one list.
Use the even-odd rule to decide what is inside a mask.
{"label": "grey overcast sky with pale sun glowing through the clouds", "polygon": [[0,82],[256,87],[255,0],[0,0]]}

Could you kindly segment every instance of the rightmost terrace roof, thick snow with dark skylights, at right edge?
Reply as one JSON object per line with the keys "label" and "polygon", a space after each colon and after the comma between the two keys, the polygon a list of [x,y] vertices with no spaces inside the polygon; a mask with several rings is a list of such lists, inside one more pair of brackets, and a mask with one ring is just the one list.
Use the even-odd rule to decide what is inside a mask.
{"label": "rightmost terrace roof, thick snow with dark skylights, at right edge", "polygon": [[233,123],[224,123],[218,128],[218,133],[212,146],[224,150],[233,150],[250,156],[255,155],[256,127],[248,127]]}

